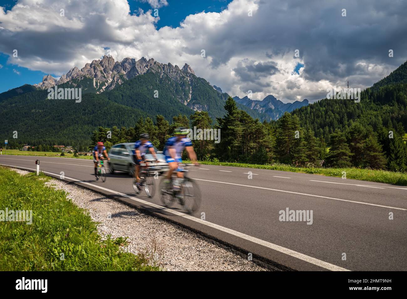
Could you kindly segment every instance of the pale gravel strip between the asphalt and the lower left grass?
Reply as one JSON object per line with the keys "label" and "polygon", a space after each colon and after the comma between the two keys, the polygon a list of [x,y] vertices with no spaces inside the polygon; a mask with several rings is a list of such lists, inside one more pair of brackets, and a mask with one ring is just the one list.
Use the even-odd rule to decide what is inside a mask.
{"label": "pale gravel strip between the asphalt and the lower left grass", "polygon": [[[28,173],[26,170],[14,170],[21,175]],[[101,236],[128,237],[129,244],[123,250],[147,254],[164,270],[278,270],[262,262],[248,261],[246,255],[234,249],[97,192],[57,179],[51,179],[46,185],[66,191],[73,203],[87,210],[91,218],[100,223],[98,233]]]}

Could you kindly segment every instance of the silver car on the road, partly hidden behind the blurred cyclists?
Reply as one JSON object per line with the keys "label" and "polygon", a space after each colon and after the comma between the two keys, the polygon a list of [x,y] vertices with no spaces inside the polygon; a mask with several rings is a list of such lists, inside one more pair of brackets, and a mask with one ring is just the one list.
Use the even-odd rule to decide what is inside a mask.
{"label": "silver car on the road, partly hidden behind the blurred cyclists", "polygon": [[[109,151],[110,161],[108,163],[110,173],[115,171],[125,171],[130,176],[134,176],[134,162],[133,162],[133,149],[134,142],[119,143],[112,146]],[[165,162],[165,156],[161,151],[157,151],[154,147],[154,151],[157,154],[158,163],[154,164],[157,170],[162,174],[168,170],[168,164]],[[146,153],[146,160],[154,160],[151,153]]]}

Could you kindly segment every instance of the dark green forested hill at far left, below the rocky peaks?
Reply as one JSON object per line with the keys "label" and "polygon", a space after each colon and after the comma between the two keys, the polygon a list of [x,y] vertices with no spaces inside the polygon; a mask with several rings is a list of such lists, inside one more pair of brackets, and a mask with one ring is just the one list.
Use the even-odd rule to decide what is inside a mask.
{"label": "dark green forested hill at far left, below the rocky peaks", "polygon": [[[46,90],[29,92],[0,102],[2,135],[7,132],[9,146],[28,143],[88,145],[99,125],[132,126],[146,113],[107,100],[99,94],[85,94],[75,100],[49,100]],[[17,131],[18,138],[13,138]]]}

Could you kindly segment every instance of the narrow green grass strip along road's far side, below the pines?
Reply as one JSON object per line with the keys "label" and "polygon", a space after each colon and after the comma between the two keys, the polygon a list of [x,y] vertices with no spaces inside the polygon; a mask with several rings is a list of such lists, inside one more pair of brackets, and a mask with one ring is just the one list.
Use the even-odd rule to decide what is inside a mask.
{"label": "narrow green grass strip along road's far side, below the pines", "polygon": [[313,175],[326,175],[329,177],[342,177],[342,172],[346,172],[347,179],[357,179],[361,181],[371,181],[377,183],[387,183],[407,186],[407,174],[385,170],[370,170],[360,168],[316,168],[316,167],[295,167],[286,164],[245,164],[231,162],[199,162],[205,165],[234,166],[246,168],[271,169],[291,172],[310,173]]}

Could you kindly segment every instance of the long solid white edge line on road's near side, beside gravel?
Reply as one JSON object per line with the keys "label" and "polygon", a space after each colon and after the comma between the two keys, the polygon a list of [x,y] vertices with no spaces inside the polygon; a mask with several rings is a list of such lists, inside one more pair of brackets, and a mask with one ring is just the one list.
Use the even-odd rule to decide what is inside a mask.
{"label": "long solid white edge line on road's near side, beside gravel", "polygon": [[[0,164],[0,165],[4,165],[4,164]],[[17,167],[17,168],[24,168],[24,169],[34,170],[34,171],[35,171],[35,169],[33,169],[33,168],[19,167],[19,166],[13,166],[13,165],[4,165],[4,166],[11,166],[11,167]],[[50,174],[50,175],[59,176],[59,175],[57,175],[57,174],[55,174],[55,173],[52,173],[52,172],[45,172],[45,171],[43,171],[43,172],[44,172],[44,173],[48,173],[48,174]],[[239,232],[239,231],[235,231],[235,230],[233,230],[233,229],[229,229],[229,228],[227,228],[227,227],[223,227],[223,226],[221,226],[221,225],[217,225],[217,224],[208,222],[208,221],[206,221],[206,220],[201,220],[200,218],[196,218],[196,217],[193,217],[193,216],[190,216],[190,215],[187,215],[187,214],[184,214],[184,213],[181,213],[181,212],[172,210],[172,209],[168,209],[168,208],[163,207],[163,206],[161,206],[161,205],[156,205],[155,203],[150,203],[149,201],[144,201],[144,200],[142,200],[142,199],[138,199],[137,197],[134,197],[134,196],[130,196],[130,195],[127,195],[127,194],[123,194],[123,193],[117,192],[117,191],[115,191],[115,190],[110,190],[110,189],[107,189],[107,188],[103,188],[103,187],[100,187],[100,186],[96,186],[96,185],[93,185],[93,184],[91,184],[91,183],[84,182],[84,181],[81,181],[81,180],[78,180],[78,179],[73,179],[73,178],[70,178],[70,177],[65,177],[65,179],[70,179],[70,180],[76,181],[76,182],[78,182],[78,183],[83,183],[83,184],[85,184],[85,185],[89,185],[89,186],[92,186],[92,187],[95,187],[95,188],[98,188],[98,189],[101,189],[101,190],[105,190],[105,191],[114,193],[114,194],[116,194],[116,195],[120,195],[120,196],[123,196],[123,197],[127,197],[127,198],[129,198],[129,199],[132,199],[133,201],[138,201],[139,203],[143,203],[143,204],[145,204],[145,205],[149,205],[149,206],[154,207],[154,208],[156,208],[156,209],[159,209],[159,210],[162,210],[162,211],[171,213],[171,214],[175,214],[175,215],[177,215],[177,216],[181,216],[181,217],[183,217],[183,218],[186,218],[186,219],[195,221],[195,222],[197,222],[197,223],[206,225],[206,226],[208,226],[208,227],[213,227],[213,228],[215,228],[215,229],[218,229],[218,230],[223,231],[223,232],[225,232],[225,233],[231,234],[231,235],[233,235],[233,236],[236,236],[236,237],[239,237],[239,238],[242,238],[242,239],[251,241],[251,242],[253,242],[253,243],[256,243],[256,244],[259,244],[259,245],[263,245],[263,246],[265,246],[265,247],[267,247],[267,248],[274,249],[274,250],[276,250],[276,251],[285,253],[285,254],[287,254],[287,255],[293,256],[294,258],[298,258],[298,259],[303,260],[303,261],[305,261],[305,262],[309,262],[310,264],[314,264],[314,265],[319,266],[319,267],[321,267],[321,268],[325,268],[325,269],[328,269],[328,270],[331,270],[331,271],[350,271],[350,270],[348,270],[348,269],[339,267],[339,266],[337,266],[337,265],[330,264],[330,263],[324,262],[324,261],[322,261],[322,260],[318,260],[317,258],[313,258],[313,257],[311,257],[311,256],[309,256],[309,255],[305,255],[305,254],[303,254],[303,253],[300,253],[300,252],[297,252],[297,251],[294,251],[294,250],[291,250],[291,249],[282,247],[282,246],[280,246],[280,245],[276,245],[276,244],[267,242],[267,241],[265,241],[265,240],[261,240],[261,239],[258,239],[258,238],[255,238],[255,237],[252,237],[252,236],[243,234],[243,233],[241,233],[241,232]],[[201,180],[201,181],[205,181],[205,180]],[[234,185],[236,185],[236,184],[234,184]]]}

